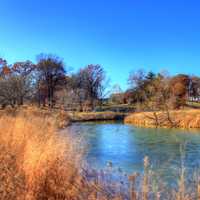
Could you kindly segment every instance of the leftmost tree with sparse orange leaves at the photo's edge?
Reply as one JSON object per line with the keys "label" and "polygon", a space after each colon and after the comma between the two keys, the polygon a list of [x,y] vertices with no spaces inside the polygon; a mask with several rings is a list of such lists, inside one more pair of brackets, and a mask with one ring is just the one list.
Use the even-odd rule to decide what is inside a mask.
{"label": "leftmost tree with sparse orange leaves at the photo's edge", "polygon": [[[30,61],[8,66],[6,62],[0,70],[0,102],[3,107],[23,105],[32,90],[31,72],[34,65]],[[29,70],[27,70],[29,69]]]}

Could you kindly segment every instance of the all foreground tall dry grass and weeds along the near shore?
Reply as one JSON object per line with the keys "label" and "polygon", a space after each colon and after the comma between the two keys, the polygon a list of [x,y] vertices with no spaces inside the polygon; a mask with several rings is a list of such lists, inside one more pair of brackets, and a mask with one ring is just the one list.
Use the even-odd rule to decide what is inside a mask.
{"label": "all foreground tall dry grass and weeds along the near shore", "polygon": [[[30,113],[0,117],[0,199],[12,200],[188,200],[200,197],[199,182],[192,192],[181,171],[179,187],[167,191],[154,183],[150,161],[144,174],[127,176],[112,164],[105,170],[83,168],[80,141],[58,132],[56,120]],[[156,185],[156,187],[155,187]],[[190,190],[189,190],[190,191]]]}

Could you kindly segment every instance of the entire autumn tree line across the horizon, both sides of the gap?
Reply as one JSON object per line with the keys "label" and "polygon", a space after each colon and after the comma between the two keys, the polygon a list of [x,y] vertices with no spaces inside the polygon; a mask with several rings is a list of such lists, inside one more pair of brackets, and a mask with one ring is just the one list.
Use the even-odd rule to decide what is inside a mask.
{"label": "entire autumn tree line across the horizon, both sides of the gap", "polygon": [[[106,80],[101,65],[90,64],[69,74],[63,60],[55,55],[40,54],[36,63],[8,64],[0,58],[0,105],[28,103],[91,111],[106,102]],[[169,110],[180,109],[187,101],[200,101],[198,76],[138,70],[130,73],[128,83],[125,92],[115,85],[109,102],[134,104],[140,110]]]}

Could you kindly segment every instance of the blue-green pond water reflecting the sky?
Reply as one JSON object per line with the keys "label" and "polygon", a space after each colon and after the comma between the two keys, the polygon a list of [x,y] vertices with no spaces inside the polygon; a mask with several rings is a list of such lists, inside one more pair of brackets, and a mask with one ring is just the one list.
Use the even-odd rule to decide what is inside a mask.
{"label": "blue-green pond water reflecting the sky", "polygon": [[167,179],[178,176],[181,155],[189,172],[199,166],[198,131],[135,128],[122,123],[77,123],[70,130],[81,134],[88,144],[87,161],[92,167],[103,168],[111,161],[125,172],[141,172],[143,158],[148,156],[152,168]]}

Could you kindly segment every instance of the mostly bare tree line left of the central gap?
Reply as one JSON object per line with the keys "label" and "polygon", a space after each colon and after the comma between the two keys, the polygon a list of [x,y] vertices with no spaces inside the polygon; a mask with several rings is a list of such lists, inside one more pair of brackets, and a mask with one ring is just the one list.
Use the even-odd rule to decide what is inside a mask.
{"label": "mostly bare tree line left of the central gap", "polygon": [[104,92],[105,71],[100,65],[88,65],[68,74],[62,59],[40,54],[37,63],[16,62],[9,65],[0,58],[0,104],[20,106],[66,106],[76,110],[92,110]]}

